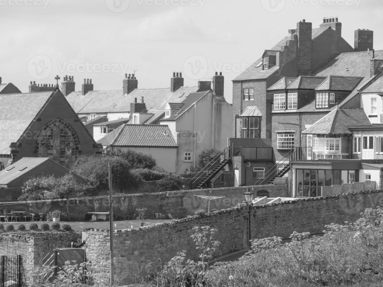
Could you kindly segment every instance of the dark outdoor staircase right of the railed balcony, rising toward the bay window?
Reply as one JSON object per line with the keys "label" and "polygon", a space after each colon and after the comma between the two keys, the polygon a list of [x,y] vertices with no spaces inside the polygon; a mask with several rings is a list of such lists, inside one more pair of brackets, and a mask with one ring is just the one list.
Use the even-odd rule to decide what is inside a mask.
{"label": "dark outdoor staircase right of the railed balcony, rising toward the bay window", "polygon": [[296,147],[291,149],[285,157],[270,168],[265,176],[259,179],[255,185],[273,184],[275,178],[281,178],[290,170],[291,160],[307,160],[308,154],[311,154],[311,147]]}

